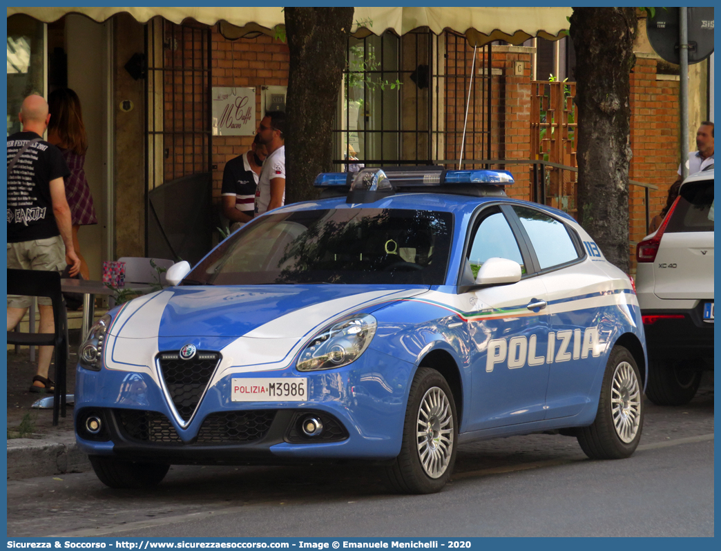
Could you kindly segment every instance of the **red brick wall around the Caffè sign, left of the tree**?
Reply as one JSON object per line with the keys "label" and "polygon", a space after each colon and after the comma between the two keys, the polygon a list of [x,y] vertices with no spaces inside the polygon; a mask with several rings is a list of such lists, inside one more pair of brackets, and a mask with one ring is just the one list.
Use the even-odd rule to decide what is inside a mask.
{"label": "red brick wall around the Caff\u00e8 sign, left of the tree", "polygon": [[[260,35],[226,40],[213,30],[213,87],[255,87],[255,120],[260,123],[263,86],[288,86],[288,45]],[[247,151],[255,136],[213,136],[213,201],[219,202],[226,162]]]}

